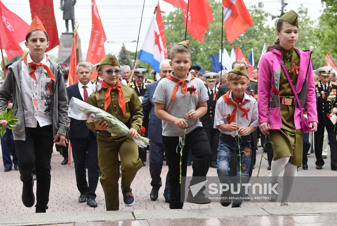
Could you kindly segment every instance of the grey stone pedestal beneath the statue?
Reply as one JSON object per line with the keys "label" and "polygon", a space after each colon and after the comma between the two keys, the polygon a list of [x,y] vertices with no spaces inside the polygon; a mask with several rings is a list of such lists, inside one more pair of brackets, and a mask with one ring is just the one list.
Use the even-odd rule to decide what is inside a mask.
{"label": "grey stone pedestal beneath the statue", "polygon": [[[61,48],[59,49],[59,56],[58,56],[58,63],[67,63],[69,66],[69,62],[70,62],[70,54],[71,54],[71,48],[72,48],[72,42],[73,42],[73,37],[72,37],[71,32],[64,32],[62,33],[61,37],[60,37],[60,46]],[[80,62],[80,58],[81,61],[84,61],[82,59],[82,51],[81,51],[81,39],[80,36],[77,35],[77,47],[76,47],[76,51],[78,56],[77,58],[77,62]],[[80,46],[80,50],[79,47]],[[80,53],[80,54],[79,54]]]}

